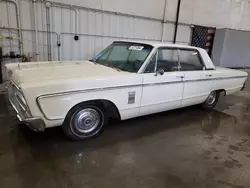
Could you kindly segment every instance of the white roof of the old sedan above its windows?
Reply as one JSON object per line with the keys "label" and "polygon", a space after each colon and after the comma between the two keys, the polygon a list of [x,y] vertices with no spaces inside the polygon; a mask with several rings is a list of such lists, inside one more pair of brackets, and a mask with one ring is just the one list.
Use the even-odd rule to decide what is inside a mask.
{"label": "white roof of the old sedan above its windows", "polygon": [[173,44],[173,43],[168,43],[168,42],[158,42],[158,41],[135,41],[135,40],[119,40],[119,41],[114,41],[114,42],[127,42],[127,43],[138,43],[138,44],[147,44],[151,45],[153,47],[173,47],[173,48],[188,48],[188,49],[196,49],[199,50],[201,48],[194,47],[194,46],[188,46],[184,44]]}

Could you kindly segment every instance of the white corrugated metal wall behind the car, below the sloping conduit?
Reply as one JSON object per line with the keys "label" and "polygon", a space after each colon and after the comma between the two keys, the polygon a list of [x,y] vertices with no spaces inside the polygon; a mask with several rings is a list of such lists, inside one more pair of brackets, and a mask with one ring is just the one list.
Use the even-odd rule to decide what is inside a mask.
{"label": "white corrugated metal wall behind the car, below the sloping conduit", "polygon": [[[1,1],[0,1],[1,2]],[[31,1],[20,2],[24,53],[36,59],[34,9]],[[2,6],[4,4],[4,6]],[[1,2],[0,35],[18,37],[14,4]],[[5,7],[8,7],[7,9]],[[144,18],[84,7],[51,3],[50,20],[46,20],[46,4],[36,3],[39,60],[48,60],[47,27],[50,24],[52,60],[92,58],[114,40],[135,39],[161,41],[163,24],[160,19]],[[3,27],[13,29],[3,29]],[[188,44],[189,25],[180,25],[177,42]],[[77,33],[77,34],[76,34]],[[174,24],[165,23],[164,41],[173,41]],[[78,35],[79,40],[74,40]],[[61,46],[58,47],[57,44]],[[3,41],[4,52],[19,52],[18,40]]]}

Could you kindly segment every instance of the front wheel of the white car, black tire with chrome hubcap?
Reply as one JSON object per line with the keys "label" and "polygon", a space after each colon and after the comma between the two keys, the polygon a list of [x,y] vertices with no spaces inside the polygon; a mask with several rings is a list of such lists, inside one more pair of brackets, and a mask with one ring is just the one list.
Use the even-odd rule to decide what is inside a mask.
{"label": "front wheel of the white car, black tire with chrome hubcap", "polygon": [[[97,116],[99,121],[97,120],[98,118],[95,118]],[[94,126],[87,129],[88,124],[93,123],[95,123]],[[80,104],[70,110],[62,128],[65,135],[70,139],[84,140],[98,136],[106,123],[107,115],[103,105],[94,103]]]}

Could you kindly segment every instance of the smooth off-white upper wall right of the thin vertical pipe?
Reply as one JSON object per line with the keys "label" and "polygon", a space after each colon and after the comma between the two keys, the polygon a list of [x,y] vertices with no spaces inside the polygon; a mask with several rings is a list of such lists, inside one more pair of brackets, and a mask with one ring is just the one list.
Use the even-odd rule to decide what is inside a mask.
{"label": "smooth off-white upper wall right of the thin vertical pipe", "polygon": [[[166,20],[175,21],[177,0],[167,0]],[[180,22],[250,30],[250,0],[184,0]]]}

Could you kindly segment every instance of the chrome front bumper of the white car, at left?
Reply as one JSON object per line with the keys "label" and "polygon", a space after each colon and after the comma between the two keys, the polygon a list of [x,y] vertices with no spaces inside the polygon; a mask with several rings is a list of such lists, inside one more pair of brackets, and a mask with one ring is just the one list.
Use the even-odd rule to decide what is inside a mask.
{"label": "chrome front bumper of the white car, at left", "polygon": [[22,109],[21,105],[16,99],[12,86],[8,86],[8,97],[10,104],[17,113],[17,118],[19,121],[25,123],[33,131],[42,132],[45,130],[45,123],[41,118],[33,117],[31,113],[28,112],[28,110],[24,111]]}

